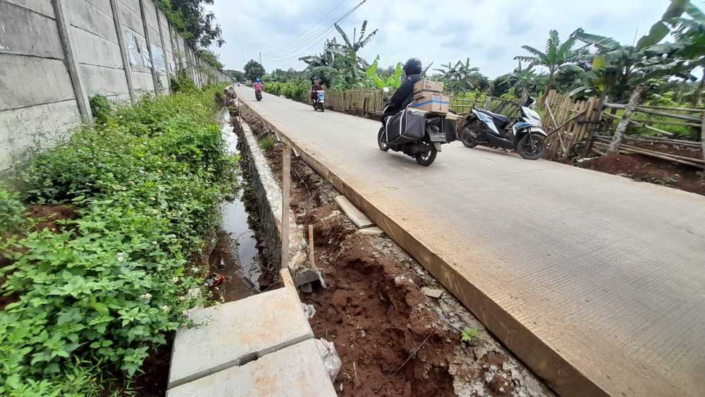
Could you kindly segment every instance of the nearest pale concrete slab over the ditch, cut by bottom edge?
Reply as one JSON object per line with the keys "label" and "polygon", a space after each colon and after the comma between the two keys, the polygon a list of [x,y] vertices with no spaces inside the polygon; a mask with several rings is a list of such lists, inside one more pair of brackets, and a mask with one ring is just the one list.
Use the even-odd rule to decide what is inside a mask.
{"label": "nearest pale concrete slab over the ditch, cut by bottom edge", "polygon": [[336,396],[331,378],[309,339],[171,389],[168,397]]}

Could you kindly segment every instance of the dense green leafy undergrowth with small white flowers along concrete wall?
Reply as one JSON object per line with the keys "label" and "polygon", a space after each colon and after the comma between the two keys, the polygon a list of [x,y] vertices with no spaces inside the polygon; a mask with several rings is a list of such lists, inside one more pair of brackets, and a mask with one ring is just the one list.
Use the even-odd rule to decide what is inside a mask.
{"label": "dense green leafy undergrowth with small white flowers along concrete wall", "polygon": [[32,159],[23,201],[76,219],[40,228],[0,188],[0,394],[102,395],[186,323],[207,271],[190,263],[234,183],[214,90],[145,97]]}

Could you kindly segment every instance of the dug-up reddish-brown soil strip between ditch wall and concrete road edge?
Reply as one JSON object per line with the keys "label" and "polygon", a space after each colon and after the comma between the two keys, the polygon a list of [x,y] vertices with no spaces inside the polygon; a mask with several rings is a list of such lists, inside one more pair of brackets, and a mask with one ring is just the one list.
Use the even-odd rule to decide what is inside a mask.
{"label": "dug-up reddish-brown soil strip between ditch wall and concrete road edge", "polygon": [[[259,137],[269,133],[243,114]],[[281,177],[281,145],[266,154]],[[314,305],[317,338],[335,343],[340,396],[551,396],[544,384],[386,234],[366,236],[338,208],[337,191],[292,159],[291,207],[314,226],[327,288],[302,293]],[[421,288],[442,291],[429,298]],[[472,343],[463,329],[477,329]]]}

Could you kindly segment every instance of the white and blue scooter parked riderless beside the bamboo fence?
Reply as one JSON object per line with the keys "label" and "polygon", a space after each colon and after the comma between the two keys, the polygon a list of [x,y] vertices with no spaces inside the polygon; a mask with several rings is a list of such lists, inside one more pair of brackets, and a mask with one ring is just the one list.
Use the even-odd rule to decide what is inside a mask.
{"label": "white and blue scooter parked riderless beside the bamboo fence", "polygon": [[517,121],[510,127],[510,119],[486,109],[472,109],[462,126],[460,141],[465,147],[477,145],[516,150],[524,159],[535,160],[546,152],[546,137],[541,128],[541,116],[530,109],[529,98],[521,106]]}

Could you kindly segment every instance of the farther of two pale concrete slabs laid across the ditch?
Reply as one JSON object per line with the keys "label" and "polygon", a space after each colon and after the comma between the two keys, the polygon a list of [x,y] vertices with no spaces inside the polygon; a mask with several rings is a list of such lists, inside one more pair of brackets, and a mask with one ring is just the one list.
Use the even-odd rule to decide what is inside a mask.
{"label": "farther of two pale concrete slabs laid across the ditch", "polygon": [[176,333],[169,389],[313,337],[292,288],[206,307],[188,316],[199,326]]}

